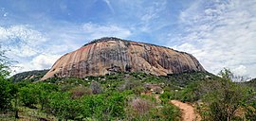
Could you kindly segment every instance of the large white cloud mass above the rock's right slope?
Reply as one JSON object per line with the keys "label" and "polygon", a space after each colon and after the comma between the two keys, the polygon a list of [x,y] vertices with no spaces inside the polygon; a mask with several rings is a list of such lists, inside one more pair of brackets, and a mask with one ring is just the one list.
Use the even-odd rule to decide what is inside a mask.
{"label": "large white cloud mass above the rock's right slope", "polygon": [[192,53],[212,73],[228,67],[255,78],[255,8],[255,1],[195,2],[180,14],[187,34],[175,38],[182,43],[174,48]]}

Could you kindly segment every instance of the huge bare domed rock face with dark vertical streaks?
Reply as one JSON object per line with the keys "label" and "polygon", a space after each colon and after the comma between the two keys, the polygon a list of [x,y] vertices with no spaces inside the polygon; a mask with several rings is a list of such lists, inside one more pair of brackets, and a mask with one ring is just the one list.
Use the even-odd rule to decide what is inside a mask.
{"label": "huge bare domed rock face with dark vertical streaks", "polygon": [[42,79],[84,78],[117,72],[165,76],[192,71],[205,69],[191,54],[150,43],[101,38],[65,54]]}

